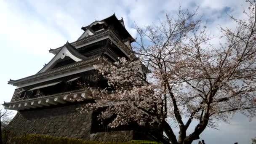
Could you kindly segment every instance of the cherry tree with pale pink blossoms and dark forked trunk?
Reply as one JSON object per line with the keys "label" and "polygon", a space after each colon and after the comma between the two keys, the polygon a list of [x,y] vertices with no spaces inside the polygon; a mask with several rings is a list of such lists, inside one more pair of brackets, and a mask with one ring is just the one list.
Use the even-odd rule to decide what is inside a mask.
{"label": "cherry tree with pale pink blossoms and dark forked trunk", "polygon": [[[181,9],[160,25],[137,27],[132,58],[95,66],[109,87],[89,88],[96,103],[80,111],[106,107],[102,119],[117,115],[110,127],[158,123],[172,144],[191,144],[207,126],[229,121],[236,112],[255,116],[256,2],[247,2],[247,19],[231,16],[237,27],[220,28],[218,46],[210,44],[212,37],[196,13]],[[187,133],[192,121],[197,125]]]}

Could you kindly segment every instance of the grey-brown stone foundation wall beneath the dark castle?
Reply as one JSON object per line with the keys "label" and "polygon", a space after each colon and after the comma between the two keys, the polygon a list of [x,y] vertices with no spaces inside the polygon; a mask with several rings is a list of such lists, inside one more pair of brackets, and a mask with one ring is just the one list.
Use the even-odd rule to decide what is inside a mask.
{"label": "grey-brown stone foundation wall beneath the dark castle", "polygon": [[91,133],[91,115],[80,114],[80,105],[52,107],[21,111],[11,121],[10,131],[16,135],[43,134],[56,137],[69,137],[90,141],[130,141],[133,131]]}

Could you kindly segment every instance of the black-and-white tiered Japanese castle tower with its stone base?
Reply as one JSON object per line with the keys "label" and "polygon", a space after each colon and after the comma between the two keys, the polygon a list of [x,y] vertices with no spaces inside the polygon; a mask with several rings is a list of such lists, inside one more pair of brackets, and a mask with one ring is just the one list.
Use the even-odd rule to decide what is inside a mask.
{"label": "black-and-white tiered Japanese castle tower with its stone base", "polygon": [[123,19],[118,20],[115,14],[82,29],[83,34],[75,42],[50,49],[55,56],[37,74],[8,82],[17,87],[11,101],[3,104],[5,109],[18,111],[10,129],[18,134],[47,134],[90,141],[157,141],[150,133],[131,126],[118,129],[99,126],[93,112],[80,114],[76,109],[81,103],[68,99],[68,95],[86,99],[87,92],[78,81],[104,87],[106,81],[94,77],[97,72],[93,64],[99,64],[100,57],[114,62],[118,57],[130,59],[133,56],[131,43],[134,39],[125,29]]}

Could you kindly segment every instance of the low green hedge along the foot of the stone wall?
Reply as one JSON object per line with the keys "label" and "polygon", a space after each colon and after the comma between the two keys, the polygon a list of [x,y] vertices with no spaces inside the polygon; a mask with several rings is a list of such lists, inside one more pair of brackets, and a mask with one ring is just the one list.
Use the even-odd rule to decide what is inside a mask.
{"label": "low green hedge along the foot of the stone wall", "polygon": [[81,139],[71,138],[56,138],[47,135],[28,134],[21,137],[14,137],[10,144],[160,144],[155,141],[131,141],[131,142],[98,142],[98,141],[83,141]]}

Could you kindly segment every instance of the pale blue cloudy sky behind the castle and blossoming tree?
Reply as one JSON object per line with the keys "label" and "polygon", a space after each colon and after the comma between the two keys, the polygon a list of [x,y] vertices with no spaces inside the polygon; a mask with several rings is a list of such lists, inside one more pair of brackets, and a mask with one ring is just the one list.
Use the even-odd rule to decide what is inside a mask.
{"label": "pale blue cloudy sky behind the castle and blossoming tree", "polygon": [[[198,15],[208,21],[208,32],[216,37],[219,25],[235,28],[227,13],[243,19],[243,8],[248,7],[244,0],[0,0],[0,103],[11,101],[15,87],[7,84],[10,78],[34,75],[53,58],[48,50],[77,40],[81,27],[115,13],[135,38],[135,23],[139,27],[157,23],[165,13],[175,15],[179,5],[189,11],[199,6]],[[256,119],[250,122],[238,114],[218,128],[207,128],[200,138],[206,144],[251,144]]]}

